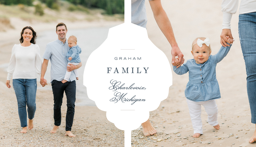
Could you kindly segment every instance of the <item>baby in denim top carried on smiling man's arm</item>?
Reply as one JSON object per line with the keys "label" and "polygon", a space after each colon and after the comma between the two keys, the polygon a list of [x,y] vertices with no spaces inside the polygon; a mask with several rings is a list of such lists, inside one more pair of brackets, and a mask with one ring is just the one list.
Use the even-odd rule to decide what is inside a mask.
{"label": "baby in denim top carried on smiling man's arm", "polygon": [[[68,64],[73,64],[75,66],[81,62],[79,54],[82,52],[81,48],[78,45],[76,45],[76,43],[77,43],[77,38],[75,36],[70,36],[68,38],[69,50],[66,55],[67,60],[69,60]],[[78,71],[77,70],[73,70],[73,71],[76,75],[76,79],[78,79]],[[65,83],[68,81],[71,72],[66,71],[65,77],[61,81],[62,83]]]}

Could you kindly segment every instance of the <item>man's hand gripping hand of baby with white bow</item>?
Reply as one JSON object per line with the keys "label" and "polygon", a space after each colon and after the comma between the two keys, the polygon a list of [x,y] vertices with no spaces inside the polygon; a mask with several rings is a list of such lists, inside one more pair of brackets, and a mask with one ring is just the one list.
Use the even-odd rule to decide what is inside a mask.
{"label": "man's hand gripping hand of baby with white bow", "polygon": [[[180,48],[178,47],[178,45],[172,46],[172,64],[175,64],[175,57],[178,56],[178,63],[175,64],[174,66],[180,67],[183,63],[184,63],[184,58],[183,58],[183,54],[180,51]],[[177,62],[177,61],[176,61]]]}

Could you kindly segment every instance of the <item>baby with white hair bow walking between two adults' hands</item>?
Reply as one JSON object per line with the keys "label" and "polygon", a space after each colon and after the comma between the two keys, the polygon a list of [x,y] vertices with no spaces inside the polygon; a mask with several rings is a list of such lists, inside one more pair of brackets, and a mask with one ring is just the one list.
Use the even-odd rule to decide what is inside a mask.
{"label": "baby with white hair bow walking between two adults' hands", "polygon": [[[231,39],[227,36],[229,43]],[[181,67],[176,68],[178,59],[173,64],[173,71],[176,74],[189,72],[189,81],[185,89],[189,113],[194,129],[193,137],[203,134],[201,120],[201,105],[208,114],[208,123],[215,129],[220,125],[217,121],[218,108],[215,99],[220,98],[220,88],[216,79],[216,65],[229,52],[230,47],[221,47],[216,55],[211,55],[209,38],[196,38],[192,44],[192,55],[194,59],[187,60]]]}

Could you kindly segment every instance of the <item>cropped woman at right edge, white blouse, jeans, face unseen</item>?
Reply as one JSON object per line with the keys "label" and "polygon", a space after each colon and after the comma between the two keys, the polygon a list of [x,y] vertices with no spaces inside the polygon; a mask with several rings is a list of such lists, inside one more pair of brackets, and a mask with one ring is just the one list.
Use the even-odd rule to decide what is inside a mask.
{"label": "cropped woman at right edge, white blouse, jeans, face unseen", "polygon": [[[226,36],[233,39],[230,30],[230,20],[232,14],[236,13],[238,0],[223,0],[223,29],[220,43],[226,44]],[[247,94],[251,108],[252,123],[256,127],[256,0],[242,0],[239,8],[238,22],[239,38],[244,56],[246,74],[247,74]],[[256,141],[256,129],[249,142]]]}

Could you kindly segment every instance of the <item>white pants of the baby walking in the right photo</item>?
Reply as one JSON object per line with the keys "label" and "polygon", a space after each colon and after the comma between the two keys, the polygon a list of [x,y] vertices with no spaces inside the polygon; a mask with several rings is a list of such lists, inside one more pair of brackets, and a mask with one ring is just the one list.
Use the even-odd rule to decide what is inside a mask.
{"label": "white pants of the baby walking in the right photo", "polygon": [[204,106],[204,109],[208,114],[208,123],[212,126],[216,126],[218,124],[218,108],[215,99],[198,102],[187,99],[187,103],[190,118],[194,129],[194,134],[203,134],[203,125],[201,120],[201,105]]}

